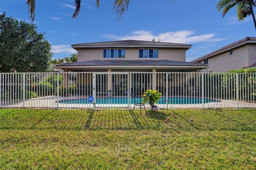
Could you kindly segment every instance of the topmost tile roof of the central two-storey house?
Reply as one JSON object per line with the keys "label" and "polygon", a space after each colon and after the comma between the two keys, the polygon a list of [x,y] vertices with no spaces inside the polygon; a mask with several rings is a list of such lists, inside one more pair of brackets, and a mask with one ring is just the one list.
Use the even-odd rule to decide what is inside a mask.
{"label": "topmost tile roof of the central two-storey house", "polygon": [[72,46],[127,46],[127,45],[160,45],[160,46],[191,46],[181,43],[168,43],[168,42],[150,42],[150,41],[140,41],[140,40],[120,40],[120,41],[110,41],[110,42],[95,42],[95,43],[78,43],[72,44]]}

